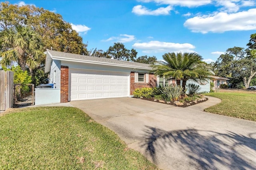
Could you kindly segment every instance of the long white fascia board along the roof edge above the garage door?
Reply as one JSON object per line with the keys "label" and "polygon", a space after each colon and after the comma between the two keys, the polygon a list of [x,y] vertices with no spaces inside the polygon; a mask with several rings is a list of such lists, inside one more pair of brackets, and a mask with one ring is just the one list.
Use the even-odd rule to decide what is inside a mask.
{"label": "long white fascia board along the roof edge above the garage door", "polygon": [[66,59],[63,57],[55,57],[51,56],[52,59],[61,60],[61,61],[71,61],[71,62],[79,62],[79,63],[88,63],[88,64],[101,64],[101,65],[107,65],[107,66],[120,66],[120,67],[128,67],[128,68],[141,68],[145,70],[152,70],[152,68],[148,67],[142,67],[142,66],[130,66],[130,65],[124,65],[124,64],[115,64],[115,63],[104,63],[100,61],[86,61],[86,60],[78,60],[78,59]]}

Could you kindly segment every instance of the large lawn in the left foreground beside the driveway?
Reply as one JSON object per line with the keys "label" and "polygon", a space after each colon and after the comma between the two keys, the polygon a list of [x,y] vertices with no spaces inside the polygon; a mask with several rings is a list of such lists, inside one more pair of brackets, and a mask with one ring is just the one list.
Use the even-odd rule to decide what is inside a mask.
{"label": "large lawn in the left foreground beside the driveway", "polygon": [[15,109],[0,117],[0,169],[158,169],[74,107]]}

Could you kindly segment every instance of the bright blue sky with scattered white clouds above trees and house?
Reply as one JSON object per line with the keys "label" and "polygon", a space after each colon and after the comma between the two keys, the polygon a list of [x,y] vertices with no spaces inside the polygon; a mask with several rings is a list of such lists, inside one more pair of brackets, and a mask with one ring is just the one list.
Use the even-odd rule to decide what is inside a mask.
{"label": "bright blue sky with scattered white clouds above trees and house", "polygon": [[24,0],[61,14],[88,49],[106,51],[114,42],[138,55],[196,52],[216,61],[226,49],[245,47],[256,33],[255,0]]}

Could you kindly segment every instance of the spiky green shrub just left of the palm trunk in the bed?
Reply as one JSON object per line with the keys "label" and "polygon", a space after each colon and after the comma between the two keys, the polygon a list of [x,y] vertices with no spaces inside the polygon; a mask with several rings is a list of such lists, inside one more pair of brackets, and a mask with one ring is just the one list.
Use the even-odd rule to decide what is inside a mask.
{"label": "spiky green shrub just left of the palm trunk in the bed", "polygon": [[181,86],[165,86],[164,88],[160,89],[162,94],[166,96],[167,101],[171,100],[178,100],[178,98],[183,94],[183,88]]}

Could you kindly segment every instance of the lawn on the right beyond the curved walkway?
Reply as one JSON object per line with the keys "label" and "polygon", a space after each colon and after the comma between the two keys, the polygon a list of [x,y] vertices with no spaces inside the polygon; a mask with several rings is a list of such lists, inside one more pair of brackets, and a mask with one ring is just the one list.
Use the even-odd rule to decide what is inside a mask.
{"label": "lawn on the right beyond the curved walkway", "polygon": [[205,111],[256,121],[256,93],[239,91],[208,93],[204,95],[222,100],[220,104],[209,107]]}

